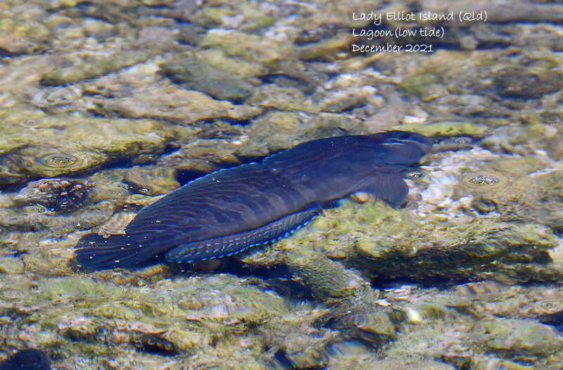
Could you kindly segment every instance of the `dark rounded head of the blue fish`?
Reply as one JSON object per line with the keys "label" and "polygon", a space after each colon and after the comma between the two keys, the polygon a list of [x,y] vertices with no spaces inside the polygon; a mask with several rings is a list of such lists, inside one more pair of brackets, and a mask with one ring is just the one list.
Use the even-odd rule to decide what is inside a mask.
{"label": "dark rounded head of the blue fish", "polygon": [[431,138],[406,131],[390,131],[371,135],[376,143],[377,160],[385,165],[410,165],[430,151]]}

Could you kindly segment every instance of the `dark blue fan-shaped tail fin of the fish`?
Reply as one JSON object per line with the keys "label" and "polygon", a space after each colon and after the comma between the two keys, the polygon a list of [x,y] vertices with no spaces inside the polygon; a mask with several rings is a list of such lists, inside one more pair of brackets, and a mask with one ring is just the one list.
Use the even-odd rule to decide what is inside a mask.
{"label": "dark blue fan-shaped tail fin of the fish", "polygon": [[169,247],[147,236],[87,234],[75,248],[76,260],[82,267],[102,270],[137,267]]}

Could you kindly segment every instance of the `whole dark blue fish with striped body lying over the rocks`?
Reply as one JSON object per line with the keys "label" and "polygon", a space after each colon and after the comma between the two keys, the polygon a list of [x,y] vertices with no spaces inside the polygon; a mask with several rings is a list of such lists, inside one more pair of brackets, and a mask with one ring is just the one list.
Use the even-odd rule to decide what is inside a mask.
{"label": "whole dark blue fish with striped body lying over the rocks", "polygon": [[426,136],[401,131],[301,143],[261,163],[190,181],[143,208],[124,235],[83,236],[76,258],[84,267],[109,269],[163,254],[170,262],[232,255],[291,234],[322,203],[355,191],[398,207],[408,193],[400,171],[431,146]]}

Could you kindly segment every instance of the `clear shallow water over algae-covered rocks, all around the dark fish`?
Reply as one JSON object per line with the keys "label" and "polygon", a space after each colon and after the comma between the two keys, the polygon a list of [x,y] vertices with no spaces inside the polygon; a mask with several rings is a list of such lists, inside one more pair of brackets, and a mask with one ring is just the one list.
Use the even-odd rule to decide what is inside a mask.
{"label": "clear shallow water over algae-covered rocks, all around the dark fish", "polygon": [[[561,368],[562,14],[545,1],[3,1],[0,359]],[[119,234],[203,174],[390,129],[435,142],[405,170],[401,208],[358,194],[205,263],[74,260],[81,236]]]}

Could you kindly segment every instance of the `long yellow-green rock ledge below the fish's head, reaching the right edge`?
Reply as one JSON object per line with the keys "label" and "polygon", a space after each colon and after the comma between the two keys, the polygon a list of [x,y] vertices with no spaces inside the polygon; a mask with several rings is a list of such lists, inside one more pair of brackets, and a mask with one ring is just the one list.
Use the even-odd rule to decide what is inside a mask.
{"label": "long yellow-green rock ledge below the fish's head, reaching the right edge", "polygon": [[[550,254],[557,245],[557,236],[542,224],[513,224],[477,217],[443,228],[439,222],[414,223],[403,212],[368,201],[362,205],[344,202],[339,208],[325,210],[310,227],[265,250],[265,255],[242,257],[251,264],[286,264],[311,287],[317,283],[318,287],[344,287],[347,284],[338,283],[339,279],[349,279],[344,277],[341,267],[329,268],[334,261],[324,263],[321,258],[316,264],[305,262],[315,260],[317,257],[312,256],[318,251],[357,269],[364,279],[369,276],[457,280],[494,276],[500,281],[555,281],[561,270]],[[306,252],[308,249],[317,253]],[[326,279],[317,269],[325,265],[326,271],[335,272]],[[318,280],[312,280],[313,277]]]}

